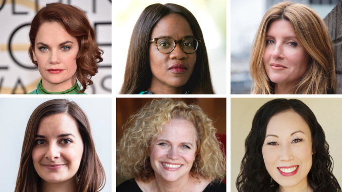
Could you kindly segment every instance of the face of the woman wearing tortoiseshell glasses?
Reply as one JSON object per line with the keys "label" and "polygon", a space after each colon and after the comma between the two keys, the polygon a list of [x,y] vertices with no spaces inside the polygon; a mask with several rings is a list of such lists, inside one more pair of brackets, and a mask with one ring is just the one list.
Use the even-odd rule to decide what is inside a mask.
{"label": "face of the woman wearing tortoiseshell glasses", "polygon": [[[162,18],[152,30],[151,39],[160,37],[178,41],[193,37],[193,33],[185,18],[170,14]],[[189,80],[196,63],[196,52],[186,54],[178,43],[171,53],[161,53],[155,42],[152,42],[149,57],[152,71],[151,87],[182,87]]]}

